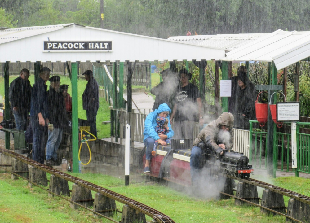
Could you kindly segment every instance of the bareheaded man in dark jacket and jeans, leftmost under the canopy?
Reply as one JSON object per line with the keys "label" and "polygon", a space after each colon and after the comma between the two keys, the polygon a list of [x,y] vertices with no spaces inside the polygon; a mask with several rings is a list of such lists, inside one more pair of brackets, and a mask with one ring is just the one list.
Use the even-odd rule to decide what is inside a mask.
{"label": "bareheaded man in dark jacket and jeans, leftmost under the canopy", "polygon": [[30,111],[31,90],[28,69],[22,69],[20,76],[10,84],[10,104],[14,114],[16,129],[26,130],[26,123]]}

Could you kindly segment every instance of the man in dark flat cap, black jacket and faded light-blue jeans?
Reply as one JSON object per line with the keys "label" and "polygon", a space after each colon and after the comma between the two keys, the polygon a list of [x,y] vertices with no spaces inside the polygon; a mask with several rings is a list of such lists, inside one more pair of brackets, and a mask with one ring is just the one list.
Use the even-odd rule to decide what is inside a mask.
{"label": "man in dark flat cap, black jacket and faded light-blue jeans", "polygon": [[64,106],[64,98],[59,90],[60,77],[52,76],[48,95],[48,117],[50,125],[48,127],[48,139],[46,145],[46,165],[58,165],[57,150],[62,139],[63,129],[68,125],[67,112]]}

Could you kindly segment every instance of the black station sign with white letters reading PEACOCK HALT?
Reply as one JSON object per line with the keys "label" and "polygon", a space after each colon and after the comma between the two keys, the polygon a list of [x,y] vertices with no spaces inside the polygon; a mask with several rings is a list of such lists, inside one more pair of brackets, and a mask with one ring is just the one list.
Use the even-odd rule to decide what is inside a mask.
{"label": "black station sign with white letters reading PEACOCK HALT", "polygon": [[43,51],[111,51],[112,41],[43,41]]}

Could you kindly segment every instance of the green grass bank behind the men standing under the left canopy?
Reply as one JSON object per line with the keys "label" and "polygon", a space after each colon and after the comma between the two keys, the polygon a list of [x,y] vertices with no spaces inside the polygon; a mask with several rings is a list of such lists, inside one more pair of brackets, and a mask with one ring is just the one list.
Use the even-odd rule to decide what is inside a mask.
{"label": "green grass bank behind the men standing under the left canopy", "polygon": [[[18,76],[10,76],[9,82],[11,83]],[[34,75],[29,77],[31,86],[34,84]],[[71,81],[69,77],[61,76],[61,84],[69,85],[68,93],[71,95]],[[86,81],[83,79],[78,80],[78,117],[80,119],[86,119],[86,111],[82,107],[82,94],[85,90]],[[50,82],[47,81],[48,89]],[[0,102],[2,102],[4,96],[4,78],[0,78]],[[110,109],[108,102],[104,98],[99,98],[99,110],[97,112],[97,136],[98,138],[110,137],[110,125],[102,124],[103,121],[110,120]]]}

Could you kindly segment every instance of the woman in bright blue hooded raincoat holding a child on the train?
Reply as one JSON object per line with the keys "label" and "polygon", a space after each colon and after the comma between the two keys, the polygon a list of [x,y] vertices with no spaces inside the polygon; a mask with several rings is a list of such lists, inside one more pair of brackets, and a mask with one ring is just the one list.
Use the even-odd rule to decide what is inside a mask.
{"label": "woman in bright blue hooded raincoat holding a child on the train", "polygon": [[[154,112],[151,112],[146,116],[146,119],[144,121],[144,146],[146,146],[146,151],[145,151],[145,167],[143,172],[144,173],[150,173],[150,160],[152,157],[152,150],[154,147],[154,143],[157,140],[158,143],[161,145],[166,145],[165,139],[172,138],[174,135],[174,132],[171,128],[170,125],[170,112],[171,109],[169,106],[165,103],[159,105],[158,109],[156,109]],[[166,117],[168,118],[168,127],[169,127],[169,132],[164,135],[162,133],[158,133],[155,131],[155,127],[157,126],[156,119],[157,117]]]}

